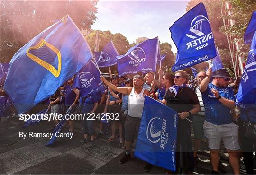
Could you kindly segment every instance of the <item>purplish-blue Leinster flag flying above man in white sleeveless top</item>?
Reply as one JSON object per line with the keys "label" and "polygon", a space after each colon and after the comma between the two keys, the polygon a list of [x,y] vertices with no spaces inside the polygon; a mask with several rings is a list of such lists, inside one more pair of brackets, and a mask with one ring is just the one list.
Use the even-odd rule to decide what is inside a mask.
{"label": "purplish-blue Leinster flag flying above man in white sleeveless top", "polygon": [[119,76],[139,71],[155,71],[158,52],[158,37],[148,39],[130,48],[125,55],[116,57]]}

